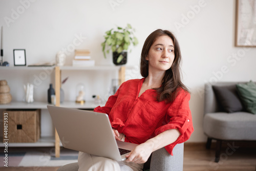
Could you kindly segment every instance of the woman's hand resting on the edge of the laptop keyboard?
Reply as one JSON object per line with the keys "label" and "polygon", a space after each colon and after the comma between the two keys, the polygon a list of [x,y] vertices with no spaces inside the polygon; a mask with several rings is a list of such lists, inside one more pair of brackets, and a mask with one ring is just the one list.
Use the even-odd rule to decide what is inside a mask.
{"label": "woman's hand resting on the edge of the laptop keyboard", "polygon": [[142,143],[125,156],[127,158],[126,162],[145,163],[152,152],[152,145],[150,143]]}

